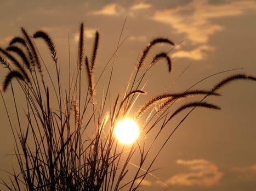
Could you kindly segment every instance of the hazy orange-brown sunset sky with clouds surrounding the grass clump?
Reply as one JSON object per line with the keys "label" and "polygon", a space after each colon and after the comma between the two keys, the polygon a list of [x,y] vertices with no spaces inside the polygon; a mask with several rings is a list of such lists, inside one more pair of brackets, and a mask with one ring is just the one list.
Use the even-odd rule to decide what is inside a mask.
{"label": "hazy orange-brown sunset sky with clouds surrounding the grass clump", "polygon": [[[79,24],[84,22],[86,52],[92,50],[95,31],[101,35],[96,69],[102,69],[116,49],[126,15],[112,94],[124,90],[139,53],[155,37],[180,44],[170,52],[172,73],[168,74],[165,63],[153,69],[145,89],[147,98],[168,88],[170,92],[184,91],[225,70],[240,68],[211,77],[195,88],[210,89],[231,74],[256,76],[256,1],[0,0],[0,46],[20,35],[20,27],[30,34],[44,29],[55,42],[59,62],[67,64],[69,39],[71,60],[76,62]],[[1,67],[1,83],[3,70]],[[207,100],[221,110],[192,112],[154,165],[160,168],[154,175],[172,186],[168,190],[256,190],[256,82],[232,82],[220,93],[222,96]],[[15,158],[8,154],[14,153],[14,142],[2,99],[0,114],[0,169],[12,171]],[[0,175],[6,177],[3,171]],[[167,188],[152,176],[144,185],[140,190]]]}

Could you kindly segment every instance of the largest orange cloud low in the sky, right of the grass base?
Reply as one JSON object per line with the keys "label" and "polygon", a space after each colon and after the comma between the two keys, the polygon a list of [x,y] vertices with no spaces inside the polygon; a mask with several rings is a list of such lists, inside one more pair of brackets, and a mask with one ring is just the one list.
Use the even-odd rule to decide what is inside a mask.
{"label": "largest orange cloud low in the sky, right of the grass base", "polygon": [[170,185],[210,187],[218,184],[223,177],[223,172],[220,172],[216,165],[205,159],[177,160],[177,164],[187,166],[189,171],[170,177],[166,181]]}

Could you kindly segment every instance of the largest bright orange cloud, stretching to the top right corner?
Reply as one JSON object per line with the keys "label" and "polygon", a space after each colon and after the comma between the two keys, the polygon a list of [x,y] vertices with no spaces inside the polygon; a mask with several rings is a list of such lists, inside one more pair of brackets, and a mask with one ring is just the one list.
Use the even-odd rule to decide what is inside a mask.
{"label": "largest bright orange cloud, stretching to the top right corner", "polygon": [[209,4],[207,0],[194,0],[174,9],[158,10],[152,16],[186,35],[192,43],[207,43],[209,36],[224,29],[213,19],[238,16],[248,9],[256,9],[255,1],[232,1],[226,4]]}

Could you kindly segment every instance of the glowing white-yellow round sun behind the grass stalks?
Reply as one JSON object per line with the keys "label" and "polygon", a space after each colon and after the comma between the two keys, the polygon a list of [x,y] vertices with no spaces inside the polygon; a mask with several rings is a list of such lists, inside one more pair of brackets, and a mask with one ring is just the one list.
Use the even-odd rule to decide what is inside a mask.
{"label": "glowing white-yellow round sun behind the grass stalks", "polygon": [[114,133],[118,141],[132,144],[139,136],[139,127],[134,120],[125,118],[116,124]]}

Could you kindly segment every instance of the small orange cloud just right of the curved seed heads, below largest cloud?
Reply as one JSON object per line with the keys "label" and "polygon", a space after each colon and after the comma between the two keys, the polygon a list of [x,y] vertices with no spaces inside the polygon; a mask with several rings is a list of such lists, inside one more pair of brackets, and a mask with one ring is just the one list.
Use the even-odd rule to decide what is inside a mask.
{"label": "small orange cloud just right of the curved seed heads, below largest cloud", "polygon": [[208,51],[214,50],[214,47],[208,45],[200,45],[193,50],[185,51],[179,50],[177,52],[172,53],[173,58],[190,58],[195,60],[201,60],[206,58]]}

